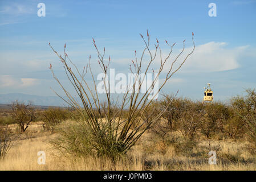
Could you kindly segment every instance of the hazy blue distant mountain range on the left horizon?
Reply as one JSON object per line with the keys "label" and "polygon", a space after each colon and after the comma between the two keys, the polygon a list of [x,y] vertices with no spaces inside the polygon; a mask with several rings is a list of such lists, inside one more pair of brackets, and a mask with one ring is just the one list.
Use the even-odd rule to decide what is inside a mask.
{"label": "hazy blue distant mountain range on the left horizon", "polygon": [[[0,94],[0,104],[11,104],[13,101],[31,102],[33,105],[40,106],[63,106],[65,102],[58,96],[36,96],[23,93]],[[65,104],[67,105],[67,104]]]}

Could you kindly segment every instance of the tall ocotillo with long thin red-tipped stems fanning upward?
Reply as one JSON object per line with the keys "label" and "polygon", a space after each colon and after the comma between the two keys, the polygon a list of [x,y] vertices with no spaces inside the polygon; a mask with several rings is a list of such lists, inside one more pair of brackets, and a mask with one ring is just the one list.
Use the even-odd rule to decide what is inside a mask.
{"label": "tall ocotillo with long thin red-tipped stems fanning upward", "polygon": [[[91,134],[94,136],[94,141],[91,143],[94,144],[94,148],[98,155],[114,157],[116,154],[125,154],[132,146],[135,145],[141,135],[143,135],[145,131],[147,131],[155,124],[156,121],[158,121],[164,110],[161,113],[157,113],[157,115],[153,114],[155,109],[152,109],[152,114],[147,112],[147,115],[145,115],[145,111],[148,109],[148,106],[152,102],[152,100],[149,100],[149,96],[152,94],[152,90],[156,84],[159,84],[158,79],[160,73],[163,72],[165,67],[168,68],[168,71],[164,73],[164,81],[157,85],[159,86],[159,89],[157,90],[158,92],[156,94],[160,92],[170,77],[172,77],[173,74],[181,68],[188,57],[193,53],[195,48],[193,40],[194,34],[192,33],[193,48],[188,53],[188,55],[185,56],[178,67],[174,69],[174,63],[176,63],[178,58],[180,58],[182,53],[184,53],[185,40],[183,42],[183,48],[181,49],[180,53],[174,57],[173,61],[169,65],[166,63],[168,60],[170,60],[170,55],[173,53],[173,47],[175,43],[170,46],[169,43],[165,40],[165,43],[169,46],[169,52],[164,57],[159,45],[159,40],[156,39],[155,49],[152,51],[150,48],[150,36],[148,31],[146,38],[144,38],[144,36],[141,34],[140,36],[143,39],[145,47],[140,56],[138,56],[137,52],[135,51],[135,61],[132,60],[132,64],[129,67],[131,73],[136,74],[135,82],[127,87],[121,100],[118,98],[114,99],[110,90],[111,88],[109,81],[107,79],[111,57],[109,56],[108,61],[105,61],[105,48],[103,52],[100,52],[99,48],[96,46],[94,38],[92,39],[92,43],[94,44],[97,52],[97,59],[99,59],[99,66],[105,74],[105,77],[102,79],[105,89],[105,104],[103,104],[103,101],[99,100],[99,93],[97,92],[95,76],[91,68],[91,56],[89,57],[88,64],[83,68],[83,72],[80,72],[78,67],[76,67],[76,65],[67,55],[66,44],[64,46],[64,56],[61,56],[49,43],[52,51],[54,51],[54,53],[62,62],[66,76],[74,87],[75,92],[78,94],[82,105],[79,104],[76,98],[70,92],[68,92],[64,85],[58,80],[54,74],[52,65],[50,64],[52,75],[60,84],[61,88],[67,96],[67,99],[61,96],[60,97],[65,102],[67,102],[68,105],[74,107],[81,115],[84,115],[84,119],[82,119],[83,121],[79,123],[83,126],[86,126],[84,128],[90,129]],[[145,65],[143,60],[146,53],[149,55],[149,60]],[[145,76],[147,73],[151,72],[150,67],[153,61],[156,60],[158,54],[160,54],[159,71],[155,74],[156,76],[153,78],[151,86],[147,88],[147,92],[141,94],[137,92],[137,90],[140,90],[143,87]],[[148,59],[148,57],[146,58]],[[73,68],[71,68],[70,65]],[[155,73],[153,69],[152,71]],[[87,72],[90,74],[93,86],[88,84],[86,78]],[[143,77],[139,76],[141,73],[144,73]],[[56,94],[59,96],[58,93]],[[153,95],[152,98],[156,97],[156,94]],[[150,120],[148,119],[149,117],[151,118]]]}

